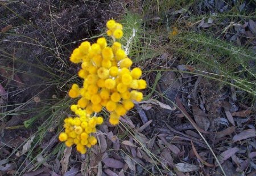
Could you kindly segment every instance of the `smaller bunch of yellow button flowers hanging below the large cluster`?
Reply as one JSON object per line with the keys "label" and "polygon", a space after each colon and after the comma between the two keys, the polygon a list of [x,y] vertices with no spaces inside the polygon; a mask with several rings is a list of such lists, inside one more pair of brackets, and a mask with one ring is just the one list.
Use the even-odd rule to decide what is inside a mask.
{"label": "smaller bunch of yellow button flowers hanging below the large cluster", "polygon": [[84,154],[86,147],[90,148],[97,143],[97,139],[90,134],[96,132],[96,125],[102,122],[102,117],[68,117],[64,120],[65,132],[60,133],[59,140],[65,141],[67,147],[76,144],[77,151]]}

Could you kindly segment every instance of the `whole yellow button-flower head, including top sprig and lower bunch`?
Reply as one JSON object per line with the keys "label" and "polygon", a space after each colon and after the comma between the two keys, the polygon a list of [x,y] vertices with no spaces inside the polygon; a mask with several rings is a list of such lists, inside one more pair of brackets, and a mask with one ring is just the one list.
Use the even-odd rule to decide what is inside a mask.
{"label": "whole yellow button-flower head, including top sprig and lower bunch", "polygon": [[109,122],[117,125],[119,118],[133,108],[133,101],[142,100],[143,94],[139,90],[147,85],[145,80],[139,79],[141,68],[130,69],[133,61],[115,41],[123,36],[122,25],[109,20],[106,26],[108,36],[114,40],[112,46],[108,46],[104,37],[94,44],[85,41],[73,50],[70,58],[73,63],[81,63],[78,75],[84,83],[82,87],[73,84],[68,92],[71,98],[80,97],[77,104],[71,106],[77,117],[65,119],[65,132],[59,139],[67,146],[76,144],[81,153],[86,152],[85,147],[97,143],[90,134],[103,122],[101,117],[92,117],[92,114],[105,108],[110,113]]}

